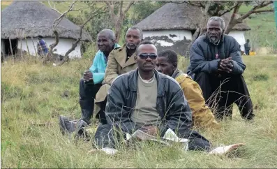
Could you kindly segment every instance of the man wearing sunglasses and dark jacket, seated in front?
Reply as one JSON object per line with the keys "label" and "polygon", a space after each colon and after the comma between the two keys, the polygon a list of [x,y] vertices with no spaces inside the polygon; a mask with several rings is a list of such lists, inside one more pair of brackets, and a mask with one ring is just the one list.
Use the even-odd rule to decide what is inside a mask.
{"label": "man wearing sunglasses and dark jacket, seated in front", "polygon": [[137,129],[158,137],[171,129],[179,138],[190,140],[188,149],[209,149],[207,139],[190,131],[191,112],[179,84],[155,70],[157,49],[153,43],[140,43],[134,59],[137,69],[119,75],[107,93],[107,124],[100,124],[95,134],[100,151],[114,154],[120,138],[117,133],[126,138],[126,133],[131,135]]}

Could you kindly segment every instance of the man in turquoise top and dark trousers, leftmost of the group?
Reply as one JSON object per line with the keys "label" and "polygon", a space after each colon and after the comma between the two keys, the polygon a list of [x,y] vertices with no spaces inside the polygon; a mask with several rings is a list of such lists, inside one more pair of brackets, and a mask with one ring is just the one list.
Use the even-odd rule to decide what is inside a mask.
{"label": "man in turquoise top and dark trousers, leftmost of the group", "polygon": [[[75,123],[79,122],[77,126],[87,126],[90,124],[90,119],[93,115],[94,110],[94,98],[96,93],[102,86],[104,80],[105,69],[107,67],[107,60],[112,50],[120,47],[115,43],[114,31],[110,29],[103,29],[97,36],[98,52],[96,53],[93,63],[89,70],[84,71],[84,77],[80,80],[80,107],[82,110],[82,117],[79,121],[70,121],[67,117],[60,117],[61,130],[64,131],[75,131]],[[96,115],[96,118],[102,124],[106,124],[105,114],[101,113],[105,110],[105,104],[100,105],[100,112]],[[102,116],[104,115],[104,117]],[[80,125],[79,125],[80,124]],[[82,133],[83,131],[78,133]]]}

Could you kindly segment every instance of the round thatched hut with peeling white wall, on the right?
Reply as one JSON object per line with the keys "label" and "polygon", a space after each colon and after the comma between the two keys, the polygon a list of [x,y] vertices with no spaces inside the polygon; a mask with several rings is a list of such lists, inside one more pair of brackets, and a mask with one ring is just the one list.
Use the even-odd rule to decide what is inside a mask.
{"label": "round thatched hut with peeling white wall, on the right", "polygon": [[[225,24],[228,24],[230,13],[223,15]],[[184,55],[187,46],[193,38],[197,22],[201,22],[201,10],[187,3],[166,3],[154,13],[136,24],[143,31],[145,40],[156,44],[158,51],[174,50]],[[229,35],[233,36],[244,51],[244,31],[250,30],[245,23],[236,24]]]}

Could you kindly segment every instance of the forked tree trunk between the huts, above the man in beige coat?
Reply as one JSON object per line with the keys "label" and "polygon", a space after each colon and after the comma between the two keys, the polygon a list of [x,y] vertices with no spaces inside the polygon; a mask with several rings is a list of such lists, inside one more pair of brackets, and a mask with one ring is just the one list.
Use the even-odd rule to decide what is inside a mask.
{"label": "forked tree trunk between the huts, above the man in beige coat", "polygon": [[115,36],[116,36],[116,41],[119,41],[119,38],[121,36],[121,27],[123,24],[123,21],[126,17],[126,14],[130,7],[133,5],[134,1],[130,1],[126,8],[123,8],[123,1],[105,1],[108,9],[109,9],[109,14],[110,14],[110,19],[112,23],[114,24],[114,29],[115,29]]}

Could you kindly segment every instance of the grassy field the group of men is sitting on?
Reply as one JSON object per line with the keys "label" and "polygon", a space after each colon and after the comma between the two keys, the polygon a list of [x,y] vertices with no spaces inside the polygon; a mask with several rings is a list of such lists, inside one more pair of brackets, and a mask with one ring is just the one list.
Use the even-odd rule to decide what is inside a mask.
{"label": "grassy field the group of men is sitting on", "polygon": [[[73,142],[61,135],[58,116],[80,118],[78,84],[91,59],[70,61],[59,67],[43,66],[33,60],[7,61],[1,64],[1,167],[274,168],[277,57],[244,57],[244,61],[255,121],[244,122],[234,108],[232,121],[222,122],[220,131],[200,131],[214,146],[245,142],[244,153],[231,158],[146,144],[140,149],[121,149],[116,156],[88,154],[92,142]],[[180,68],[185,69],[188,62],[179,62]]]}

